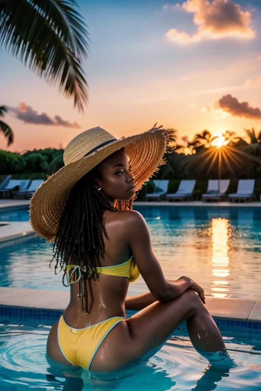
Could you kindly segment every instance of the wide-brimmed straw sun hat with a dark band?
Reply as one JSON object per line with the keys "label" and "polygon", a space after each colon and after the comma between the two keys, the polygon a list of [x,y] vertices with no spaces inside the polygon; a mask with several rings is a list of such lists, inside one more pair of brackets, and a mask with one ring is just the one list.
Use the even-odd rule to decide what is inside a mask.
{"label": "wide-brimmed straw sun hat with a dark band", "polygon": [[[163,154],[171,132],[162,127],[130,137],[117,139],[100,127],[78,134],[67,145],[65,166],[43,182],[30,204],[30,223],[37,236],[54,241],[60,218],[74,184],[103,159],[122,147],[129,157],[136,190],[165,164]],[[158,169],[159,170],[159,169]]]}

